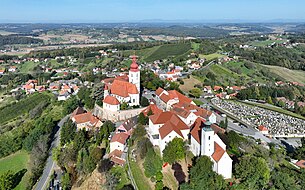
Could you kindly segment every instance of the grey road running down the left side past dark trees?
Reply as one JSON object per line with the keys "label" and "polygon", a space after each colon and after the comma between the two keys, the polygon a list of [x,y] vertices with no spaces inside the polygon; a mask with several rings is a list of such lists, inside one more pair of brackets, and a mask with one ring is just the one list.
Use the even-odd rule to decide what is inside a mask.
{"label": "grey road running down the left side past dark trees", "polygon": [[49,177],[51,176],[52,171],[53,171],[54,167],[56,166],[56,163],[53,161],[53,158],[52,158],[52,149],[59,145],[60,129],[63,126],[63,124],[68,120],[69,117],[70,117],[70,115],[67,115],[58,122],[58,130],[56,131],[54,138],[53,138],[53,142],[51,143],[47,163],[43,170],[42,176],[40,177],[37,185],[35,186],[35,190],[44,190],[49,185],[48,184]]}

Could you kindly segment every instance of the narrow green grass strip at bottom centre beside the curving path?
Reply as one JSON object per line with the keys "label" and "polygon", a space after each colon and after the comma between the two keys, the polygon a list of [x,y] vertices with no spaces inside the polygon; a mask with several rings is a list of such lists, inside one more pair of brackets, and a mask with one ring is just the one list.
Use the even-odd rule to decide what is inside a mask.
{"label": "narrow green grass strip at bottom centre beside the curving path", "polygon": [[130,160],[129,164],[130,164],[130,169],[131,169],[133,178],[137,184],[138,189],[140,189],[140,190],[151,189],[148,185],[149,182],[147,181],[147,178],[145,177],[145,175],[142,172],[141,168],[139,167],[138,163]]}

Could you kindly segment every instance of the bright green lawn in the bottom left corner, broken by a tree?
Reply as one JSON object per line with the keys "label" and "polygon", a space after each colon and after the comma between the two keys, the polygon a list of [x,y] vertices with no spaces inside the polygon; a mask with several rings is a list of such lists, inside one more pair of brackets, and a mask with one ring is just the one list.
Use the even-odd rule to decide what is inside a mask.
{"label": "bright green lawn in the bottom left corner, broken by a tree", "polygon": [[[19,151],[12,155],[0,159],[0,175],[5,173],[8,170],[11,170],[13,173],[22,172],[26,169],[27,161],[29,155],[25,151]],[[15,188],[17,190],[25,189],[25,179],[22,178],[21,182]]]}

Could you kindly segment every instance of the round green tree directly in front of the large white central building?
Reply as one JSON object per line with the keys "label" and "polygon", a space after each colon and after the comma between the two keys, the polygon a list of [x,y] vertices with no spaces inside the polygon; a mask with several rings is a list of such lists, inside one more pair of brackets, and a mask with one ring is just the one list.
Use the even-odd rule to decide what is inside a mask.
{"label": "round green tree directly in front of the large white central building", "polygon": [[181,138],[174,138],[163,150],[163,159],[165,162],[173,164],[185,157],[185,142]]}

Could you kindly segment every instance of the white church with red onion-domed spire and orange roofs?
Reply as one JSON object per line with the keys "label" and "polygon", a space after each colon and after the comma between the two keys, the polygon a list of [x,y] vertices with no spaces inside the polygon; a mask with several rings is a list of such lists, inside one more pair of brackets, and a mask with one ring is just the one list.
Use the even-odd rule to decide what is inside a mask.
{"label": "white church with red onion-domed spire and orange roofs", "polygon": [[140,70],[136,56],[132,57],[129,74],[102,81],[104,88],[104,111],[116,112],[120,105],[127,103],[129,106],[140,105]]}

